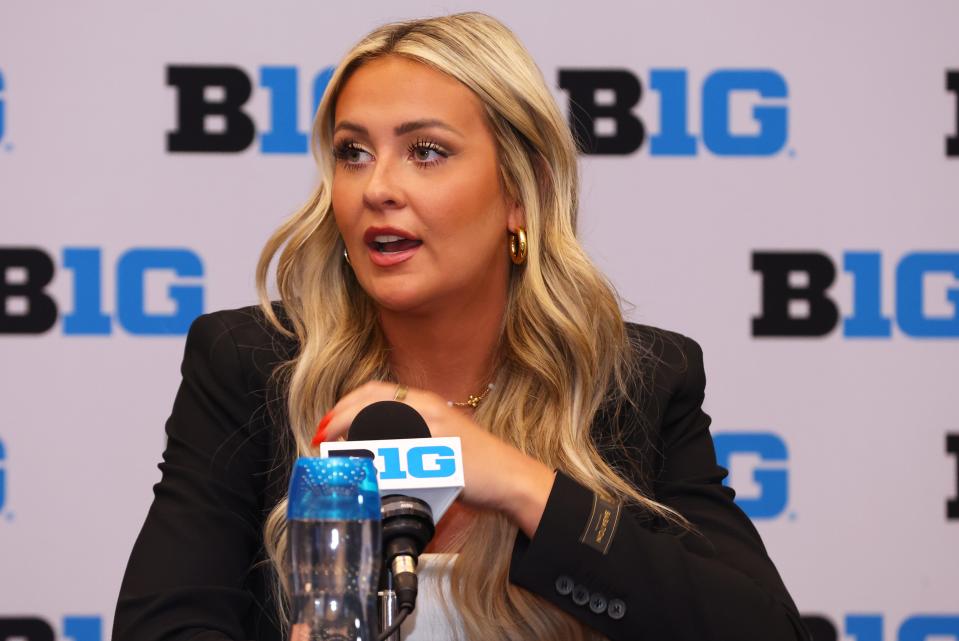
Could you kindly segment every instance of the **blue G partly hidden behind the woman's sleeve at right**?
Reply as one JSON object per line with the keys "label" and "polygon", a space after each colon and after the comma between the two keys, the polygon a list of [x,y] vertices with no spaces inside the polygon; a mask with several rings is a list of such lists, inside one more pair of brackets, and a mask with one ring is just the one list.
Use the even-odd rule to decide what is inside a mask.
{"label": "blue G partly hidden behind the woman's sleeve at right", "polygon": [[749,518],[774,519],[785,512],[789,450],[782,437],[772,432],[718,432],[713,445],[716,461],[730,471],[723,484],[736,490],[736,504]]}

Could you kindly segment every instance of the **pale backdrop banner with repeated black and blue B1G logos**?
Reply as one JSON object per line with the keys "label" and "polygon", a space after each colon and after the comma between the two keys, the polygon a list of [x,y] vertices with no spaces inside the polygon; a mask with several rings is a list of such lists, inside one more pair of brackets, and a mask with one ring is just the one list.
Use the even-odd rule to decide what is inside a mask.
{"label": "pale backdrop banner with repeated black and blue B1G logos", "polygon": [[[184,335],[255,302],[330,68],[479,9],[587,142],[581,236],[705,350],[816,641],[959,640],[959,4],[0,5],[0,639],[109,638]],[[574,107],[571,105],[575,105]]]}

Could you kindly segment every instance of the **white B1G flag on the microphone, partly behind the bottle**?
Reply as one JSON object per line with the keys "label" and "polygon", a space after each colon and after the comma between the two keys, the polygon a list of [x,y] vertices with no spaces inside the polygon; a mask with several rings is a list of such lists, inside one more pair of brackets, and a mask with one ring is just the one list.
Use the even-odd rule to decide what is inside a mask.
{"label": "white B1G flag on the microphone, partly behind the bottle", "polygon": [[463,489],[463,454],[457,437],[333,441],[320,456],[373,456],[380,494],[404,494],[429,503],[439,521]]}

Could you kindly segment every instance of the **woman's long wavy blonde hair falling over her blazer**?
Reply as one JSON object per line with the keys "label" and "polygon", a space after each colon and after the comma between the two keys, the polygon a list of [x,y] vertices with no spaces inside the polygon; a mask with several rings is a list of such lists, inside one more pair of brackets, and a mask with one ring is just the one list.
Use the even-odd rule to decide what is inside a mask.
{"label": "woman's long wavy blonde hair falling over her blazer", "polygon": [[[524,265],[512,268],[496,384],[475,420],[607,499],[639,504],[668,522],[681,522],[646,497],[630,472],[613,469],[594,442],[590,427],[610,394],[635,402],[629,399],[640,387],[636,362],[643,348],[631,344],[616,295],[576,239],[578,166],[569,127],[516,36],[481,13],[382,26],[346,55],[330,79],[313,127],[322,179],[309,203],[269,239],[257,266],[263,312],[277,331],[299,343],[296,357],[278,370],[296,448],[290,457],[311,454],[314,426],[338,398],[366,381],[391,378],[376,310],[343,260],[330,198],[337,97],[359,66],[386,55],[428,65],[476,94],[496,140],[503,186],[525,212],[529,254]],[[277,254],[284,322],[266,286]],[[503,260],[508,260],[505,235]],[[264,528],[281,584],[287,564],[285,517],[284,500]],[[601,638],[509,582],[515,536],[516,527],[502,515],[479,513],[468,532],[457,537],[460,554],[451,591],[466,636],[473,641]],[[288,596],[287,586],[282,589]]]}

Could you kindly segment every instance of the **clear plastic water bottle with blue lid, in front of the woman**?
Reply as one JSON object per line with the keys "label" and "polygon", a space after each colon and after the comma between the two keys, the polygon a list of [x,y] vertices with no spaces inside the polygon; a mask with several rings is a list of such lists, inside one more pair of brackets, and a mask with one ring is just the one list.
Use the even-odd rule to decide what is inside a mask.
{"label": "clear plastic water bottle with blue lid, in front of the woman", "polygon": [[290,639],[373,641],[380,495],[365,458],[300,458],[290,478]]}

